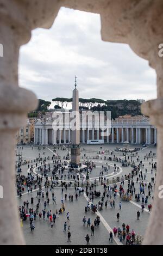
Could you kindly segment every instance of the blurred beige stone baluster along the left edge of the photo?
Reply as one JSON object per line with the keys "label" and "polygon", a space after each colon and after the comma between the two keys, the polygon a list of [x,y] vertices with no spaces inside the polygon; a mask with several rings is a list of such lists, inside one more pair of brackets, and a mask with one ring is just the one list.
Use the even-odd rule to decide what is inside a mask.
{"label": "blurred beige stone baluster along the left edge of the photo", "polygon": [[[18,4],[18,3],[17,3]],[[14,5],[14,6],[13,6]],[[23,3],[20,3],[23,5]],[[24,8],[25,10],[25,8]],[[21,14],[21,15],[19,15]],[[35,95],[18,86],[18,52],[30,39],[28,22],[17,10],[16,1],[1,1],[0,35],[3,57],[0,57],[0,244],[23,245],[24,237],[15,193],[15,135],[26,125],[27,113],[37,106]]]}

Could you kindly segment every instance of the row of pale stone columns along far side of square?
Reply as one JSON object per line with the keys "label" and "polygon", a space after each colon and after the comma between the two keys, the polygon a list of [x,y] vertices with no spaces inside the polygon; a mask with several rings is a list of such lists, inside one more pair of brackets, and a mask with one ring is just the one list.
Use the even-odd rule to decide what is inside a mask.
{"label": "row of pale stone columns along far side of square", "polygon": [[[102,130],[81,129],[80,143],[86,143],[87,140],[103,139],[105,143],[124,143],[131,144],[156,144],[156,128],[155,127],[111,127]],[[48,127],[35,127],[34,143],[39,145],[48,144],[67,144],[71,143],[71,130],[53,130]]]}

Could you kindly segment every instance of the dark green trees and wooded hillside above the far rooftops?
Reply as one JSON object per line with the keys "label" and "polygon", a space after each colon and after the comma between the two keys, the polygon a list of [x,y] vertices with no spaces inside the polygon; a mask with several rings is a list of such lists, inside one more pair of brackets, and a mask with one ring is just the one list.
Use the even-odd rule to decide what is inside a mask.
{"label": "dark green trees and wooded hillside above the far rooftops", "polygon": [[[72,102],[72,98],[57,97],[52,99],[54,108],[66,108],[68,103]],[[37,117],[37,112],[42,114],[48,111],[51,101],[39,99],[39,106],[33,112],[28,113],[28,117]],[[83,99],[79,98],[79,109],[90,109],[92,111],[111,111],[111,118],[115,119],[119,115],[141,115],[141,103],[137,100],[112,100],[104,101],[102,99]]]}

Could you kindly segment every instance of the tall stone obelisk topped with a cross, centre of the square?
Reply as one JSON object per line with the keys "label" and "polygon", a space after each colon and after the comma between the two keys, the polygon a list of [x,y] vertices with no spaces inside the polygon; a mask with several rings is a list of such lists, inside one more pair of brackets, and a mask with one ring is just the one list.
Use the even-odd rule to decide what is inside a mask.
{"label": "tall stone obelisk topped with a cross, centre of the square", "polygon": [[75,88],[72,92],[72,112],[76,116],[76,127],[72,129],[71,137],[71,167],[78,168],[80,163],[80,114],[79,92],[77,90],[77,77],[75,76]]}

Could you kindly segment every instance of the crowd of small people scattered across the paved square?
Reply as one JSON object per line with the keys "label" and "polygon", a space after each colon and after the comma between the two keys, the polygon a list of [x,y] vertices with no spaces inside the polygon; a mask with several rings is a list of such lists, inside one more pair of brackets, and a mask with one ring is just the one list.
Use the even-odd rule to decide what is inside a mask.
{"label": "crowd of small people scattered across the paved square", "polygon": [[[40,151],[40,149],[39,149]],[[60,157],[59,157],[60,158]],[[48,158],[47,158],[48,159]],[[146,157],[145,157],[146,159]],[[117,160],[115,160],[117,161]],[[132,161],[132,159],[131,159]],[[151,193],[153,191],[153,186],[155,186],[155,178],[153,176],[153,170],[156,170],[156,162],[149,162],[149,166],[152,167],[152,177],[151,181],[146,181],[146,173],[147,169],[145,169],[145,174],[143,174],[142,169],[144,168],[142,161],[140,161],[139,156],[137,156],[137,166],[133,166],[130,171],[130,175],[128,176],[128,185],[124,184],[123,176],[119,179],[120,184],[117,182],[112,185],[108,185],[106,179],[103,177],[105,173],[108,173],[110,166],[108,162],[106,162],[106,166],[102,165],[99,175],[99,181],[101,181],[100,187],[97,189],[97,181],[95,179],[92,184],[86,184],[85,187],[79,187],[79,174],[74,175],[68,173],[70,176],[68,178],[72,178],[74,182],[74,194],[68,193],[68,188],[72,186],[72,182],[61,181],[61,203],[58,209],[47,210],[47,205],[57,205],[57,198],[54,193],[54,188],[57,186],[57,172],[60,172],[63,177],[64,174],[64,166],[61,164],[61,160],[53,159],[53,170],[52,176],[49,177],[48,173],[51,171],[51,166],[46,160],[43,160],[41,166],[38,166],[38,170],[41,175],[35,174],[33,172],[33,164],[29,166],[29,172],[27,175],[16,174],[16,187],[17,187],[17,196],[22,200],[22,194],[27,191],[28,194],[32,194],[33,190],[37,190],[36,197],[30,197],[30,200],[22,200],[22,206],[18,206],[18,211],[20,213],[21,220],[27,221],[29,218],[30,230],[33,233],[35,229],[35,221],[39,220],[47,220],[49,228],[54,230],[55,221],[59,218],[60,215],[66,215],[66,221],[64,222],[64,232],[67,231],[67,242],[71,242],[71,232],[70,232],[70,212],[65,210],[65,202],[69,200],[71,202],[78,201],[78,197],[86,194],[88,198],[87,205],[85,206],[85,215],[83,217],[83,226],[90,228],[91,236],[95,235],[96,228],[99,228],[100,217],[98,216],[98,211],[102,211],[104,208],[108,209],[109,205],[111,209],[115,209],[116,212],[115,217],[117,222],[120,221],[120,213],[122,209],[122,198],[124,194],[129,195],[132,200],[136,200],[137,203],[141,202],[141,212],[145,209],[145,204],[148,204],[148,199],[151,198]],[[64,162],[65,165],[66,162]],[[37,163],[36,163],[37,166]],[[93,169],[93,167],[92,167]],[[114,169],[118,170],[116,164],[114,165]],[[136,188],[136,184],[134,181],[134,177],[136,175],[136,184],[139,182],[139,189]],[[51,198],[52,197],[52,198]],[[74,199],[75,198],[75,199]],[[119,198],[119,200],[117,200]],[[96,201],[98,199],[98,202]],[[153,197],[152,197],[153,199]],[[30,205],[30,207],[29,207]],[[43,208],[41,208],[43,205]],[[152,204],[148,204],[148,211],[152,211]],[[93,221],[91,222],[91,218],[86,218],[86,214],[90,212],[91,214],[97,214],[96,217],[93,217]],[[137,211],[137,220],[140,220],[140,212]],[[113,242],[114,236],[117,236],[120,239],[120,242],[125,241],[127,244],[133,244],[135,241],[135,230],[131,229],[129,224],[122,224],[121,227],[114,227],[112,231],[110,231],[108,240]],[[86,244],[90,244],[89,234],[85,236]]]}

